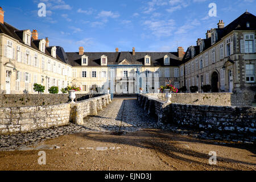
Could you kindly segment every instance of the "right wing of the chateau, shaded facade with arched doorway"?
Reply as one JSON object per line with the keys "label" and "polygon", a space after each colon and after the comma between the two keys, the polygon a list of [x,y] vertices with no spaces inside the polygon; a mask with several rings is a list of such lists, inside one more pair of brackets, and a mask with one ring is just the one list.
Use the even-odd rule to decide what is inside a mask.
{"label": "right wing of the chateau, shaded facade with arched doorway", "polygon": [[225,27],[223,20],[187,49],[180,75],[183,86],[211,85],[212,92],[256,92],[256,17],[243,13]]}

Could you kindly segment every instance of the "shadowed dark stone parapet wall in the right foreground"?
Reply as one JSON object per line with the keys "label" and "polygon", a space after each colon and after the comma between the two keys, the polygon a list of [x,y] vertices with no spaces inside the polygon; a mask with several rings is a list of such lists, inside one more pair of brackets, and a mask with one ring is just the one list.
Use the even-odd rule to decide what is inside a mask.
{"label": "shadowed dark stone parapet wall in the right foreground", "polygon": [[162,123],[216,132],[256,134],[256,107],[167,104],[145,94],[139,94],[137,98],[144,110]]}

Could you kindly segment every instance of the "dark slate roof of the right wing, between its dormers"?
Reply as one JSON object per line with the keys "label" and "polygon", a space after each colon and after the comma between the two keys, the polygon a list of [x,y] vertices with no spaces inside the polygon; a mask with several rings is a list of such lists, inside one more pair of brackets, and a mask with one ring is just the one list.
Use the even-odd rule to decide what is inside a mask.
{"label": "dark slate roof of the right wing, between its dormers", "polygon": [[[250,27],[246,26],[246,23],[250,23]],[[256,30],[256,16],[249,12],[243,13],[241,16],[239,16],[237,19],[233,20],[233,22],[229,23],[228,26],[225,26],[224,28],[215,28],[218,34],[218,40],[219,42],[221,38],[228,35],[233,30]],[[204,50],[211,47],[211,38],[204,39],[205,47]],[[199,55],[199,46],[194,46],[196,49],[196,55]],[[203,51],[204,51],[203,50]],[[186,63],[191,59],[191,47],[189,47],[183,57],[182,63]]]}

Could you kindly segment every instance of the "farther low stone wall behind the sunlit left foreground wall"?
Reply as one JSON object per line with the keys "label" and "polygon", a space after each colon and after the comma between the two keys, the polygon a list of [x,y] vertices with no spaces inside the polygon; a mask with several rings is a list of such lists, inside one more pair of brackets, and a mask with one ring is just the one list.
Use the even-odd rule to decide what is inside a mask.
{"label": "farther low stone wall behind the sunlit left foreground wall", "polygon": [[[75,101],[98,96],[102,94],[76,94]],[[0,94],[0,107],[56,105],[69,101],[69,94]]]}

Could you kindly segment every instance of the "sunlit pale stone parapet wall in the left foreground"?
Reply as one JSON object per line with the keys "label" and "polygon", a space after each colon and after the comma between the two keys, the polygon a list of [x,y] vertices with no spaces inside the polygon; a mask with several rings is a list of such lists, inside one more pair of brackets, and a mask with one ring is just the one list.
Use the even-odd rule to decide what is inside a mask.
{"label": "sunlit pale stone parapet wall in the left foreground", "polygon": [[0,108],[0,134],[25,133],[69,122],[82,125],[84,117],[95,115],[111,102],[110,94],[78,101],[75,104]]}

